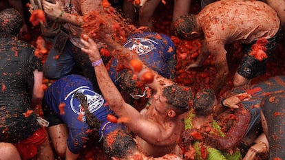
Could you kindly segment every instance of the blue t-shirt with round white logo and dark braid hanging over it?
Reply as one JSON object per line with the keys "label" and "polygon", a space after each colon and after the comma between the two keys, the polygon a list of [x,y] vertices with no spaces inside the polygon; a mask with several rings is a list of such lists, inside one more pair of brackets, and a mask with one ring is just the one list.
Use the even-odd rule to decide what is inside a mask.
{"label": "blue t-shirt with round white logo and dark braid hanging over it", "polygon": [[[80,101],[74,97],[76,92],[83,93],[87,97],[90,113],[93,113],[101,122],[100,136],[105,136],[116,128],[125,128],[122,124],[110,123],[106,119],[108,114],[114,114],[114,112],[109,109],[103,96],[93,90],[92,83],[87,78],[70,75],[56,80],[45,91],[45,104],[66,124],[69,130],[67,146],[75,154],[80,152],[86,143],[87,130],[90,128],[86,123],[85,112]],[[65,106],[59,108],[62,103],[65,103]],[[83,115],[81,119],[78,118],[79,115]],[[103,128],[104,130],[101,132]]]}

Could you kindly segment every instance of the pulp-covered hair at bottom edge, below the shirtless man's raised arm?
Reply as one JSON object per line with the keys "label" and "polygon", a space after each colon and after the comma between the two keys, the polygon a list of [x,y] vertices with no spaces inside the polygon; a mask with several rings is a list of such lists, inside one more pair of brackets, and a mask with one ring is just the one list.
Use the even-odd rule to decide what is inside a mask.
{"label": "pulp-covered hair at bottom edge, below the shirtless man's raised arm", "polygon": [[125,158],[136,150],[134,137],[126,130],[116,129],[104,139],[104,150],[107,157]]}

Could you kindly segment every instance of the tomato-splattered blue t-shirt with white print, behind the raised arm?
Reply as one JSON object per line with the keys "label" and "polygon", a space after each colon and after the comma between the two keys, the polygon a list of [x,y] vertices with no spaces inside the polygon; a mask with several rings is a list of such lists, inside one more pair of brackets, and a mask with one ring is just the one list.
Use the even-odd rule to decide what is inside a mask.
{"label": "tomato-splattered blue t-shirt with white print, behind the raised arm", "polygon": [[[171,38],[156,32],[138,32],[127,38],[125,48],[136,51],[140,60],[165,78],[173,78],[176,71],[176,49]],[[118,60],[112,61],[109,76],[118,87],[120,72],[117,71]]]}

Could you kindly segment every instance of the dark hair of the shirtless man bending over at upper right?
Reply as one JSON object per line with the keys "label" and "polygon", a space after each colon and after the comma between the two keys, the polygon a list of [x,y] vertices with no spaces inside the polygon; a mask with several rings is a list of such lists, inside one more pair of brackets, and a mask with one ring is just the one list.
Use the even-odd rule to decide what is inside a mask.
{"label": "dark hair of the shirtless man bending over at upper right", "polygon": [[174,23],[174,34],[180,39],[188,39],[196,30],[196,15],[186,14],[180,16]]}

